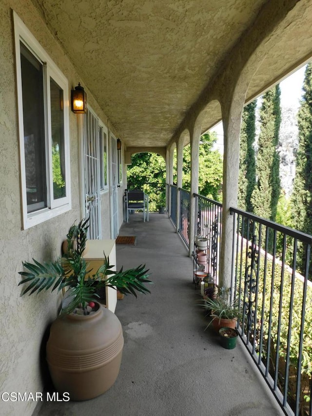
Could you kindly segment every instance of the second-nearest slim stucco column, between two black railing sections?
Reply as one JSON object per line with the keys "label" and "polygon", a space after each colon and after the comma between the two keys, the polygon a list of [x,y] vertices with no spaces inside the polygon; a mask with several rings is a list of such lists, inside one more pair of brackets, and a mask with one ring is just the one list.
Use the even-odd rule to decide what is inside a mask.
{"label": "second-nearest slim stucco column, between two black railing sections", "polygon": [[194,194],[198,194],[198,160],[199,160],[199,139],[200,125],[195,125],[191,133],[191,200],[190,200],[190,247],[189,256],[192,256],[195,238],[195,198]]}

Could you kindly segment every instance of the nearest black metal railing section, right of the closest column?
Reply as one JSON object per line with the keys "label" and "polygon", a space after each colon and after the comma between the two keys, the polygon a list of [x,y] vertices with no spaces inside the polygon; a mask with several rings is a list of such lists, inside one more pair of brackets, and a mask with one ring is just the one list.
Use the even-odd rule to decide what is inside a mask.
{"label": "nearest black metal railing section, right of the closest column", "polygon": [[284,412],[311,416],[312,236],[235,208],[231,213],[241,338]]}

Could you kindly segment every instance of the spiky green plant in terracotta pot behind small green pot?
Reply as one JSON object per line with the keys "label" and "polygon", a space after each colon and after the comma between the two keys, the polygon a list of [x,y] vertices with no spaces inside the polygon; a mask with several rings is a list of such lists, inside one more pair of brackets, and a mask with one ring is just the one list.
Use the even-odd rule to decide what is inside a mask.
{"label": "spiky green plant in terracotta pot behind small green pot", "polygon": [[223,327],[235,329],[238,318],[242,317],[242,310],[237,301],[231,302],[229,300],[228,289],[219,289],[215,298],[206,297],[203,306],[211,311],[210,316],[212,317],[206,329],[212,324],[216,332]]}

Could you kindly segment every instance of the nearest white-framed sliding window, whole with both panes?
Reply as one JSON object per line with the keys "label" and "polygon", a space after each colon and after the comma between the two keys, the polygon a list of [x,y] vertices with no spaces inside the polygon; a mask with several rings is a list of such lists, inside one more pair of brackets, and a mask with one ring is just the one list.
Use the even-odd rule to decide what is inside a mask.
{"label": "nearest white-framed sliding window, whole with both panes", "polygon": [[23,228],[71,209],[68,81],[14,12]]}

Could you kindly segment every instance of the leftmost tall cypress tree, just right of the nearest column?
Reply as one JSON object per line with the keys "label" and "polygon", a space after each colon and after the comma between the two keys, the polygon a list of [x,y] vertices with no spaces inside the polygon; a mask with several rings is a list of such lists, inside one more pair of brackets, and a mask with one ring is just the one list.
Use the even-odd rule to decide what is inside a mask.
{"label": "leftmost tall cypress tree, just right of the nearest column", "polygon": [[238,207],[253,212],[251,196],[255,186],[255,109],[257,101],[246,105],[240,130],[239,145],[239,176],[238,176]]}

